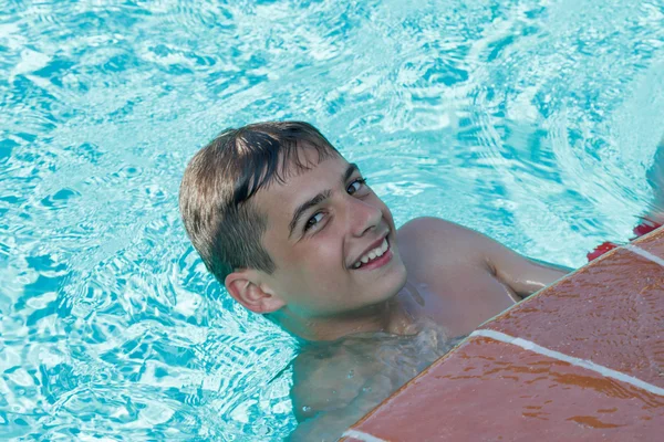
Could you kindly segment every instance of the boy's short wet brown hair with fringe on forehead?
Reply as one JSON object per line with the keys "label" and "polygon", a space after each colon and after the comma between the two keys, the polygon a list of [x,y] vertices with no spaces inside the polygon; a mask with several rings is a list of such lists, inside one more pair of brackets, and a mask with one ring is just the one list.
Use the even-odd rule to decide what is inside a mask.
{"label": "boy's short wet brown hair with fringe on forehead", "polygon": [[299,149],[317,151],[318,161],[339,155],[308,123],[267,122],[224,130],[187,165],[179,190],[180,214],[194,248],[221,284],[235,270],[274,271],[261,243],[267,218],[251,197],[310,169],[312,164]]}

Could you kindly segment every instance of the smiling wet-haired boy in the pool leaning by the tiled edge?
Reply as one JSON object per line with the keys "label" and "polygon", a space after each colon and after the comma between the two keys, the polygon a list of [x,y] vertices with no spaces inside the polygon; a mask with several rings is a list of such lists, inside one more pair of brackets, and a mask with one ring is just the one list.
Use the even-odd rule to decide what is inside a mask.
{"label": "smiling wet-haired boy in the pool leaning by the tiled edge", "polygon": [[180,188],[207,269],[248,309],[308,344],[293,439],[339,436],[464,336],[570,270],[469,229],[392,214],[318,129],[259,123],[198,151]]}

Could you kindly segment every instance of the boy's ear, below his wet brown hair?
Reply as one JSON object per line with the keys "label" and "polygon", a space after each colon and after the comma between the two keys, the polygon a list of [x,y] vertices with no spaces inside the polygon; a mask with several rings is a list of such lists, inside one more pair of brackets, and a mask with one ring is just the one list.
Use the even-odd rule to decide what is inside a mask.
{"label": "boy's ear, below his wet brown hair", "polygon": [[224,285],[230,296],[253,313],[272,313],[286,305],[267,285],[261,284],[260,276],[251,270],[230,273]]}

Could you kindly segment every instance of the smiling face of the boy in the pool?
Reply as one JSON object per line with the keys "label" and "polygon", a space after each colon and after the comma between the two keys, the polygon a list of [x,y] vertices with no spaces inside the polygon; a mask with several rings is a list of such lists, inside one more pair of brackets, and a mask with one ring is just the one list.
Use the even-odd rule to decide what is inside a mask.
{"label": "smiling face of the boy in the pool", "polygon": [[277,265],[263,281],[300,317],[343,316],[396,295],[406,269],[390,209],[341,156],[299,155],[309,170],[255,196]]}

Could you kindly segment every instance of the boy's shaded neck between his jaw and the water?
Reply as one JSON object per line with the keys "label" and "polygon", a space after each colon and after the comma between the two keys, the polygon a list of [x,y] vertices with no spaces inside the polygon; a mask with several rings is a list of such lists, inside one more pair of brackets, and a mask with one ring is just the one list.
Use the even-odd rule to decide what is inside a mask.
{"label": "boy's shaded neck between his jaw and the water", "polygon": [[414,319],[398,296],[362,311],[326,317],[303,318],[287,308],[276,313],[274,319],[289,333],[305,340],[336,340],[359,333],[413,333]]}

